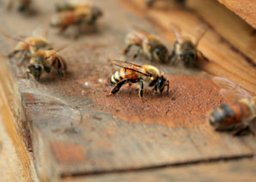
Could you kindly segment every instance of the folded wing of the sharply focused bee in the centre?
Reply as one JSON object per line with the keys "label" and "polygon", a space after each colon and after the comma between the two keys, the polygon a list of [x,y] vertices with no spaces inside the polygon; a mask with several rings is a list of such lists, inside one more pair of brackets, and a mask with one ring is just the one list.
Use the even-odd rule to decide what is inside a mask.
{"label": "folded wing of the sharply focused bee in the centre", "polygon": [[130,62],[122,62],[119,60],[112,60],[112,63],[120,68],[131,69],[132,71],[135,71],[137,73],[142,73],[145,76],[151,76],[151,74],[148,73],[146,70],[144,70],[143,67],[140,65],[133,64]]}

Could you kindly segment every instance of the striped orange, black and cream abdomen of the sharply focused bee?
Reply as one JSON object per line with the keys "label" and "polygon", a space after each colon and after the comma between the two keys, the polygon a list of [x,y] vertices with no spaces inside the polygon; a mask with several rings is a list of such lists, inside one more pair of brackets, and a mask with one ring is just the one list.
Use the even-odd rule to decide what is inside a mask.
{"label": "striped orange, black and cream abdomen of the sharply focused bee", "polygon": [[131,82],[137,82],[137,73],[131,69],[121,68],[112,75],[110,85],[116,85],[123,79],[129,79]]}

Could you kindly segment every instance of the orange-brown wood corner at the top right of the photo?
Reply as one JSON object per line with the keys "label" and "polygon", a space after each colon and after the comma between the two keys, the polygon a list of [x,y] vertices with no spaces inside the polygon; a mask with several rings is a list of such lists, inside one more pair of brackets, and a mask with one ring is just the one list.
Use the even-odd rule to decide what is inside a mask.
{"label": "orange-brown wood corner at the top right of the photo", "polygon": [[228,9],[239,15],[241,19],[256,28],[256,1],[243,0],[218,0],[224,4]]}

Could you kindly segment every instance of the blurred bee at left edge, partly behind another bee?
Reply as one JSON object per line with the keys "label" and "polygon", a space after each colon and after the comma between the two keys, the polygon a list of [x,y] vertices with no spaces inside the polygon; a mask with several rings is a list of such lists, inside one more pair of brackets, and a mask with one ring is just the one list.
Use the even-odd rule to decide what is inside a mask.
{"label": "blurred bee at left edge, partly behind another bee", "polygon": [[20,54],[20,64],[25,60],[30,59],[37,50],[52,49],[52,45],[46,39],[48,32],[45,31],[43,35],[42,29],[40,27],[35,29],[33,36],[25,39],[12,38],[2,30],[0,30],[0,32],[3,34],[3,36],[18,41],[18,44],[15,46],[15,50],[11,51],[8,54],[8,57],[12,58],[17,54]]}

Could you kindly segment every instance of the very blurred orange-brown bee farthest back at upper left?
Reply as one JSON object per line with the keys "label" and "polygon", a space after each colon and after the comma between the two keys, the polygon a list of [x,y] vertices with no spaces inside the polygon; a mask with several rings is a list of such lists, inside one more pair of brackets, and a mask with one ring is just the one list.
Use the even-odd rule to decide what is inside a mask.
{"label": "very blurred orange-brown bee farthest back at upper left", "polygon": [[60,12],[52,18],[50,25],[60,27],[59,33],[63,33],[69,26],[77,26],[80,33],[83,26],[94,26],[97,19],[102,15],[103,13],[98,7],[90,4],[82,5]]}

